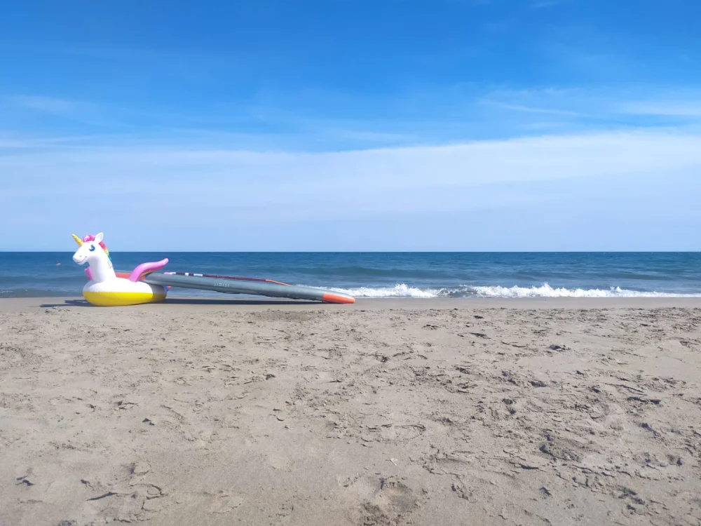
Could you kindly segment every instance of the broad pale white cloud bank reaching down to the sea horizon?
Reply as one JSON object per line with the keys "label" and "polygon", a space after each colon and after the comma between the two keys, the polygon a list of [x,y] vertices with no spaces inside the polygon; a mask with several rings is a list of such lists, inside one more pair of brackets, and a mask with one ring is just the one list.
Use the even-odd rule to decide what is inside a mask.
{"label": "broad pale white cloud bank reaching down to the sea horizon", "polygon": [[[0,248],[40,229],[56,250],[74,230],[121,250],[504,250],[530,228],[560,236],[548,250],[608,250],[651,213],[674,233],[654,246],[679,248],[700,169],[701,134],[646,130],[327,153],[50,144],[0,155],[0,239],[18,243]],[[144,228],[154,241],[130,241]]]}

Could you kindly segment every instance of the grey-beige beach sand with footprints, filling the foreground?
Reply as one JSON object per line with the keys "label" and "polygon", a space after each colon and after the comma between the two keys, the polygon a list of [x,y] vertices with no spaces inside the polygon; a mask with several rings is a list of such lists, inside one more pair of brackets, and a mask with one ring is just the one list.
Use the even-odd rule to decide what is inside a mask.
{"label": "grey-beige beach sand with footprints, filling the foreground", "polygon": [[701,299],[6,299],[0,382],[2,525],[701,524]]}

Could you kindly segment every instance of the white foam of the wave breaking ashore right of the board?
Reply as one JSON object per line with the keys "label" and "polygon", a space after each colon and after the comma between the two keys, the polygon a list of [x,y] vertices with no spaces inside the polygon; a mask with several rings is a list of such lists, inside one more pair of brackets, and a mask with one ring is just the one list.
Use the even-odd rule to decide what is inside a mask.
{"label": "white foam of the wave breaking ashore right of the board", "polygon": [[540,287],[501,287],[501,286],[464,286],[461,288],[416,288],[404,283],[394,287],[360,287],[334,288],[336,292],[346,292],[353,297],[701,297],[701,294],[677,294],[674,292],[641,292],[620,287],[609,289],[552,288],[547,283]]}

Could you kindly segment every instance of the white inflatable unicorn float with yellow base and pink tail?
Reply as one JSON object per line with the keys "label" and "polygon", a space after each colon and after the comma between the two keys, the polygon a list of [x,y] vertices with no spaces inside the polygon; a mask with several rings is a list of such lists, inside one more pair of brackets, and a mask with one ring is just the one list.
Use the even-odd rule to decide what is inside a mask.
{"label": "white inflatable unicorn float with yellow base and pink tail", "polygon": [[83,297],[86,301],[99,306],[162,302],[168,290],[162,285],[150,285],[139,279],[144,274],[165,267],[168,258],[159,262],[142,263],[130,274],[116,273],[102,237],[102,232],[97,236],[85,236],[83,239],[73,234],[79,246],[73,255],[73,261],[79,265],[89,265],[86,269],[88,283],[83,287]]}

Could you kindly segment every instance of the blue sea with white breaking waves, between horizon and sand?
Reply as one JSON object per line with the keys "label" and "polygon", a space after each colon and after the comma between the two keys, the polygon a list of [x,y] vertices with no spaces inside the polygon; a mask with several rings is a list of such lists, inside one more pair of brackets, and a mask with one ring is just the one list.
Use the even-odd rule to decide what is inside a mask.
{"label": "blue sea with white breaking waves, between horizon and sand", "polygon": [[[80,296],[73,252],[0,252],[0,297]],[[355,297],[701,297],[701,252],[111,252],[115,269],[269,278]],[[219,295],[172,288],[169,295]]]}

